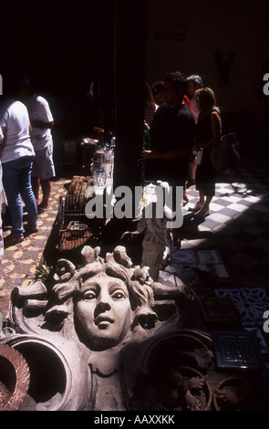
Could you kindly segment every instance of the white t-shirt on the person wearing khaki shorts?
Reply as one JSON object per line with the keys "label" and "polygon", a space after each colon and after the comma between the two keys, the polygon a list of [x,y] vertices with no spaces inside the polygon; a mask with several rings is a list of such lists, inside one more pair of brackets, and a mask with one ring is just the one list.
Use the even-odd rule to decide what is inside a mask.
{"label": "white t-shirt on the person wearing khaki shorts", "polygon": [[[33,94],[27,101],[30,122],[41,120],[42,122],[53,122],[53,117],[49,109],[47,99],[40,95]],[[52,143],[52,135],[49,128],[42,130],[32,125],[31,141],[35,151],[40,151]]]}

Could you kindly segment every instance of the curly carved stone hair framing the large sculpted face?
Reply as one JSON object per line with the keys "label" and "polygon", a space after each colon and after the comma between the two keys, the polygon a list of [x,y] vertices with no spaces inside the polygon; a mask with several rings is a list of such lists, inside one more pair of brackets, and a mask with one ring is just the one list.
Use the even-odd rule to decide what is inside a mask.
{"label": "curly carved stone hair framing the large sculpted face", "polygon": [[[144,329],[155,326],[156,313],[151,309],[154,303],[153,290],[150,287],[152,279],[149,268],[133,267],[132,261],[123,246],[117,246],[105,258],[99,256],[100,248],[84,246],[82,259],[85,265],[78,270],[67,259],[57,262],[56,285],[51,290],[52,307],[47,311],[45,319],[57,324],[62,312],[62,319],[67,315],[70,299],[76,301],[81,285],[90,277],[98,273],[106,273],[109,277],[120,278],[129,291],[129,301],[134,312],[133,326],[140,324]],[[62,320],[61,320],[62,321]]]}

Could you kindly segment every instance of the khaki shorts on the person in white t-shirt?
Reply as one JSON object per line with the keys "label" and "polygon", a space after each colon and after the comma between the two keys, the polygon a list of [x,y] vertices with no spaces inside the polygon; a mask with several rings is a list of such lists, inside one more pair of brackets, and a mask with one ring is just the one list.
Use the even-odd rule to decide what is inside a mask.
{"label": "khaki shorts on the person in white t-shirt", "polygon": [[52,146],[47,146],[40,151],[35,151],[36,157],[33,161],[32,176],[40,180],[51,179],[55,176],[55,166],[52,158]]}

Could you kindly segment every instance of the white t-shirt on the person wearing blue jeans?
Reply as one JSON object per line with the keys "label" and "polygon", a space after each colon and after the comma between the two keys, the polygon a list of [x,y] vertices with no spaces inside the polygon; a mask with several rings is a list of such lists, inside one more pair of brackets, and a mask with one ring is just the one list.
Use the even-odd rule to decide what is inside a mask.
{"label": "white t-shirt on the person wearing blue jeans", "polygon": [[2,163],[14,161],[22,156],[35,156],[29,124],[28,111],[21,101],[10,99],[1,106],[0,127],[6,129]]}

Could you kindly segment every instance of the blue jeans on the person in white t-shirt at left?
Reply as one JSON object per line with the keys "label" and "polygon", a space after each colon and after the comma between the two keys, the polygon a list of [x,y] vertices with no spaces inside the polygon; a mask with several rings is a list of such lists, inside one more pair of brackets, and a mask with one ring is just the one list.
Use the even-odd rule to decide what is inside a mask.
{"label": "blue jeans on the person in white t-shirt at left", "polygon": [[23,235],[22,199],[26,204],[28,225],[37,226],[36,198],[31,184],[32,163],[32,157],[23,156],[2,164],[3,185],[11,214],[11,233],[16,236]]}

